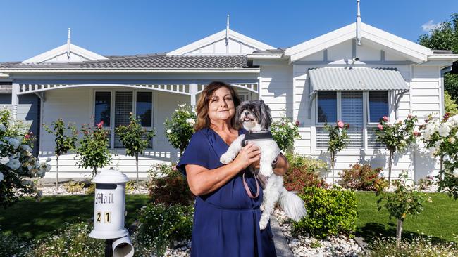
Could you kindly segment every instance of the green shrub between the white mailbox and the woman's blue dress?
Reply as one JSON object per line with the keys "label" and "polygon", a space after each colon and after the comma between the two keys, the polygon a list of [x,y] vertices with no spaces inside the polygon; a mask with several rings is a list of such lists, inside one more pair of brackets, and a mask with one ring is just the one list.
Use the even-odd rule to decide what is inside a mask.
{"label": "green shrub between the white mailbox and the woman's blue dress", "polygon": [[135,232],[135,251],[149,256],[163,256],[167,246],[174,240],[190,239],[194,208],[165,204],[149,204],[139,211],[137,232]]}

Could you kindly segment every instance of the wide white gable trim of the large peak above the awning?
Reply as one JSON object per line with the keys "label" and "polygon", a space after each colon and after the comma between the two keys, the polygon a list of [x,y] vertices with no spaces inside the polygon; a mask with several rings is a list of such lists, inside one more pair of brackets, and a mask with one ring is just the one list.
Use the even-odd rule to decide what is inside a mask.
{"label": "wide white gable trim of the large peak above the awning", "polygon": [[[291,48],[287,48],[285,55],[290,57],[290,62],[295,62],[301,58],[304,58],[318,51],[323,51],[330,46],[335,46],[349,39],[354,39],[357,33],[356,23],[352,23],[340,29],[336,29],[333,32],[323,34],[320,37],[316,37],[309,41],[305,41]],[[414,62],[424,62],[428,60],[429,55],[433,55],[431,49],[416,44],[407,39],[397,37],[394,34],[390,34],[371,25],[361,22],[361,38],[368,39],[377,44],[383,45],[387,48],[392,49],[406,55]]]}

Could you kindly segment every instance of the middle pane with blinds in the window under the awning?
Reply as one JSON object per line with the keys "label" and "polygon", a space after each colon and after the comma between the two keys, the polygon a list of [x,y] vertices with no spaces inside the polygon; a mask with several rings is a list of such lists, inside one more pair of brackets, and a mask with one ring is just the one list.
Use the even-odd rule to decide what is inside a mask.
{"label": "middle pane with blinds in the window under the awning", "polygon": [[363,142],[363,93],[361,91],[342,92],[342,121],[350,125],[347,148],[362,148]]}

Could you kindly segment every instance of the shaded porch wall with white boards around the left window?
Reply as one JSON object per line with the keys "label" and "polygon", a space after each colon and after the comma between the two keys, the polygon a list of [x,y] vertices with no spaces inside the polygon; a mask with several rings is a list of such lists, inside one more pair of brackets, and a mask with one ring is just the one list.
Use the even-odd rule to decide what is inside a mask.
{"label": "shaded porch wall with white boards around the left window", "polygon": [[[75,122],[78,129],[83,123],[92,123],[94,108],[94,91],[95,90],[119,90],[119,88],[66,88],[47,91],[47,101],[44,102],[44,111],[42,122],[51,124],[56,117],[61,117],[64,121]],[[124,89],[121,89],[124,90]],[[190,104],[190,97],[187,95],[178,95],[154,91],[154,114],[153,126],[156,129],[156,137],[153,139],[153,148],[144,152],[139,158],[140,177],[146,178],[151,165],[160,162],[176,162],[178,151],[173,149],[164,135],[163,121],[170,117],[176,107],[181,104]],[[54,156],[54,137],[42,131],[42,152],[39,157],[47,159],[51,157],[52,169],[45,178],[56,177],[56,157]],[[135,177],[135,157],[125,156],[125,150],[114,149],[113,161],[110,166],[117,167],[128,177]],[[70,153],[59,158],[59,177],[76,178],[89,177],[90,169],[78,168],[75,154]]]}

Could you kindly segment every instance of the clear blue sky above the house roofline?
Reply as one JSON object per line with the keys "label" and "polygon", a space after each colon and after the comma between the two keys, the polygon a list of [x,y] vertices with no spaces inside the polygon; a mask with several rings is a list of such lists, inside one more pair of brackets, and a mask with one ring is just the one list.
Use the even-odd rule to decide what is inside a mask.
{"label": "clear blue sky above the house roofline", "polygon": [[[356,20],[356,0],[0,0],[0,62],[66,44],[101,55],[170,52],[225,29],[286,48]],[[458,12],[458,0],[361,0],[361,20],[404,39]]]}

